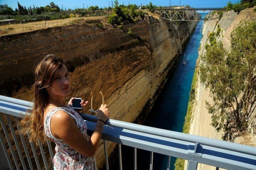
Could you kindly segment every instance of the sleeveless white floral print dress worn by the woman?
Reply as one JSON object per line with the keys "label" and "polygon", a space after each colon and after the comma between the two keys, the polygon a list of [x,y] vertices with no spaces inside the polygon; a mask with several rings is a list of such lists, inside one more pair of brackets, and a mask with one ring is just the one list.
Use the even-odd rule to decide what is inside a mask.
{"label": "sleeveless white floral print dress worn by the woman", "polygon": [[72,108],[66,107],[56,107],[51,109],[45,118],[44,121],[44,130],[47,137],[53,140],[56,144],[55,155],[53,158],[54,169],[63,169],[63,170],[73,170],[73,169],[94,169],[94,158],[84,156],[76,150],[72,149],[61,139],[54,138],[50,129],[50,121],[54,113],[59,110],[63,110],[68,113],[76,122],[77,127],[84,134],[84,136],[89,141],[89,136],[87,135],[87,125],[82,117]]}

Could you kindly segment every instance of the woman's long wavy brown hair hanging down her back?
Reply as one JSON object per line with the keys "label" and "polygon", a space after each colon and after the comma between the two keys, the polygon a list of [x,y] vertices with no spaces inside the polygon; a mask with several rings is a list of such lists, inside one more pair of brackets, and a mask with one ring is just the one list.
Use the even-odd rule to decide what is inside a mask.
{"label": "woman's long wavy brown hair hanging down her back", "polygon": [[51,88],[51,83],[56,72],[62,67],[64,61],[53,54],[48,54],[37,65],[35,70],[34,87],[34,106],[32,112],[27,113],[21,120],[21,133],[30,135],[30,142],[38,144],[38,140],[42,143],[46,142],[44,133],[43,113],[48,103],[48,94],[46,89]]}

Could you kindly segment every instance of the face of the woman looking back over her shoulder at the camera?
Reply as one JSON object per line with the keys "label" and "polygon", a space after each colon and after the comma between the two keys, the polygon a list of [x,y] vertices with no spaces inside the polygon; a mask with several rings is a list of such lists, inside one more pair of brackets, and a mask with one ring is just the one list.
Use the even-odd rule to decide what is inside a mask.
{"label": "face of the woman looking back over her shoulder at the camera", "polygon": [[53,82],[48,93],[55,97],[65,97],[70,94],[70,77],[64,64],[53,78]]}

